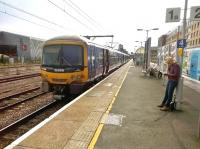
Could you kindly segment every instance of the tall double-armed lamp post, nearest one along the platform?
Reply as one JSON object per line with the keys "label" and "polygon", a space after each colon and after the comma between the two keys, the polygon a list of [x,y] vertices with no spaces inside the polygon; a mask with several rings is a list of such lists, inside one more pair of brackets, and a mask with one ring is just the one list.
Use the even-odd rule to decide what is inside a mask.
{"label": "tall double-armed lamp post, nearest one along the platform", "polygon": [[150,63],[150,50],[148,49],[148,36],[149,36],[149,31],[152,31],[152,30],[159,30],[159,28],[152,28],[152,29],[137,29],[137,31],[146,31],[146,48],[145,48],[145,52],[144,52],[144,64],[146,64],[146,66],[143,66],[145,68],[145,71],[147,71],[147,67],[148,67],[148,64]]}

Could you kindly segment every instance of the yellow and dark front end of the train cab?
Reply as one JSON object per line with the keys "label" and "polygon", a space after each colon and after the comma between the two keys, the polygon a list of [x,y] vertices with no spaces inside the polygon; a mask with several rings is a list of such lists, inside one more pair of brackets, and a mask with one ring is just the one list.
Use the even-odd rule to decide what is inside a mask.
{"label": "yellow and dark front end of the train cab", "polygon": [[[56,53],[56,50],[60,53]],[[78,54],[76,50],[79,51]],[[86,44],[65,40],[47,42],[43,49],[41,76],[44,91],[54,91],[55,94],[80,92],[88,81]]]}

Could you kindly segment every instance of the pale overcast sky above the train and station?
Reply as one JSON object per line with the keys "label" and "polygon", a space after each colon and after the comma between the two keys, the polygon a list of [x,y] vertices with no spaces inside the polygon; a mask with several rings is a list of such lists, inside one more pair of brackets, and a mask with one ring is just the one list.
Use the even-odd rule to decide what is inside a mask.
{"label": "pale overcast sky above the train and station", "polygon": [[[185,0],[0,0],[0,30],[41,39],[67,34],[114,35],[114,42],[123,44],[124,48],[133,52],[134,46],[140,45],[135,41],[146,39],[146,32],[139,32],[137,28],[159,28],[158,31],[149,32],[152,45],[156,46],[159,36],[181,24],[165,23],[166,8],[183,9],[184,2]],[[191,6],[200,6],[200,0],[188,0],[188,8]],[[31,13],[32,16],[22,11]],[[181,14],[183,15],[183,10]],[[189,17],[189,12],[187,16]],[[111,39],[95,41],[106,44]]]}

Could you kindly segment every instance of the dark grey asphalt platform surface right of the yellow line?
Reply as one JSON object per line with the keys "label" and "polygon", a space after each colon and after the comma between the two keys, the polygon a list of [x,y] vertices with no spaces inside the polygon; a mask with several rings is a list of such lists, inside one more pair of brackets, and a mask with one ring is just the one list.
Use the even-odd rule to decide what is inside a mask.
{"label": "dark grey asphalt platform surface right of the yellow line", "polygon": [[184,86],[182,111],[164,112],[162,84],[131,66],[94,148],[200,149],[200,93]]}

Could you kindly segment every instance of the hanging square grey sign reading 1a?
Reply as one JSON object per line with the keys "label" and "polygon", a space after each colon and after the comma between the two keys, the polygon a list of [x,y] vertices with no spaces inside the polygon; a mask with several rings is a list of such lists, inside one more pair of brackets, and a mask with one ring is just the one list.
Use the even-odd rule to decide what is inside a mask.
{"label": "hanging square grey sign reading 1a", "polygon": [[180,21],[180,14],[181,14],[181,8],[167,8],[166,9],[166,18],[165,22],[179,22]]}

